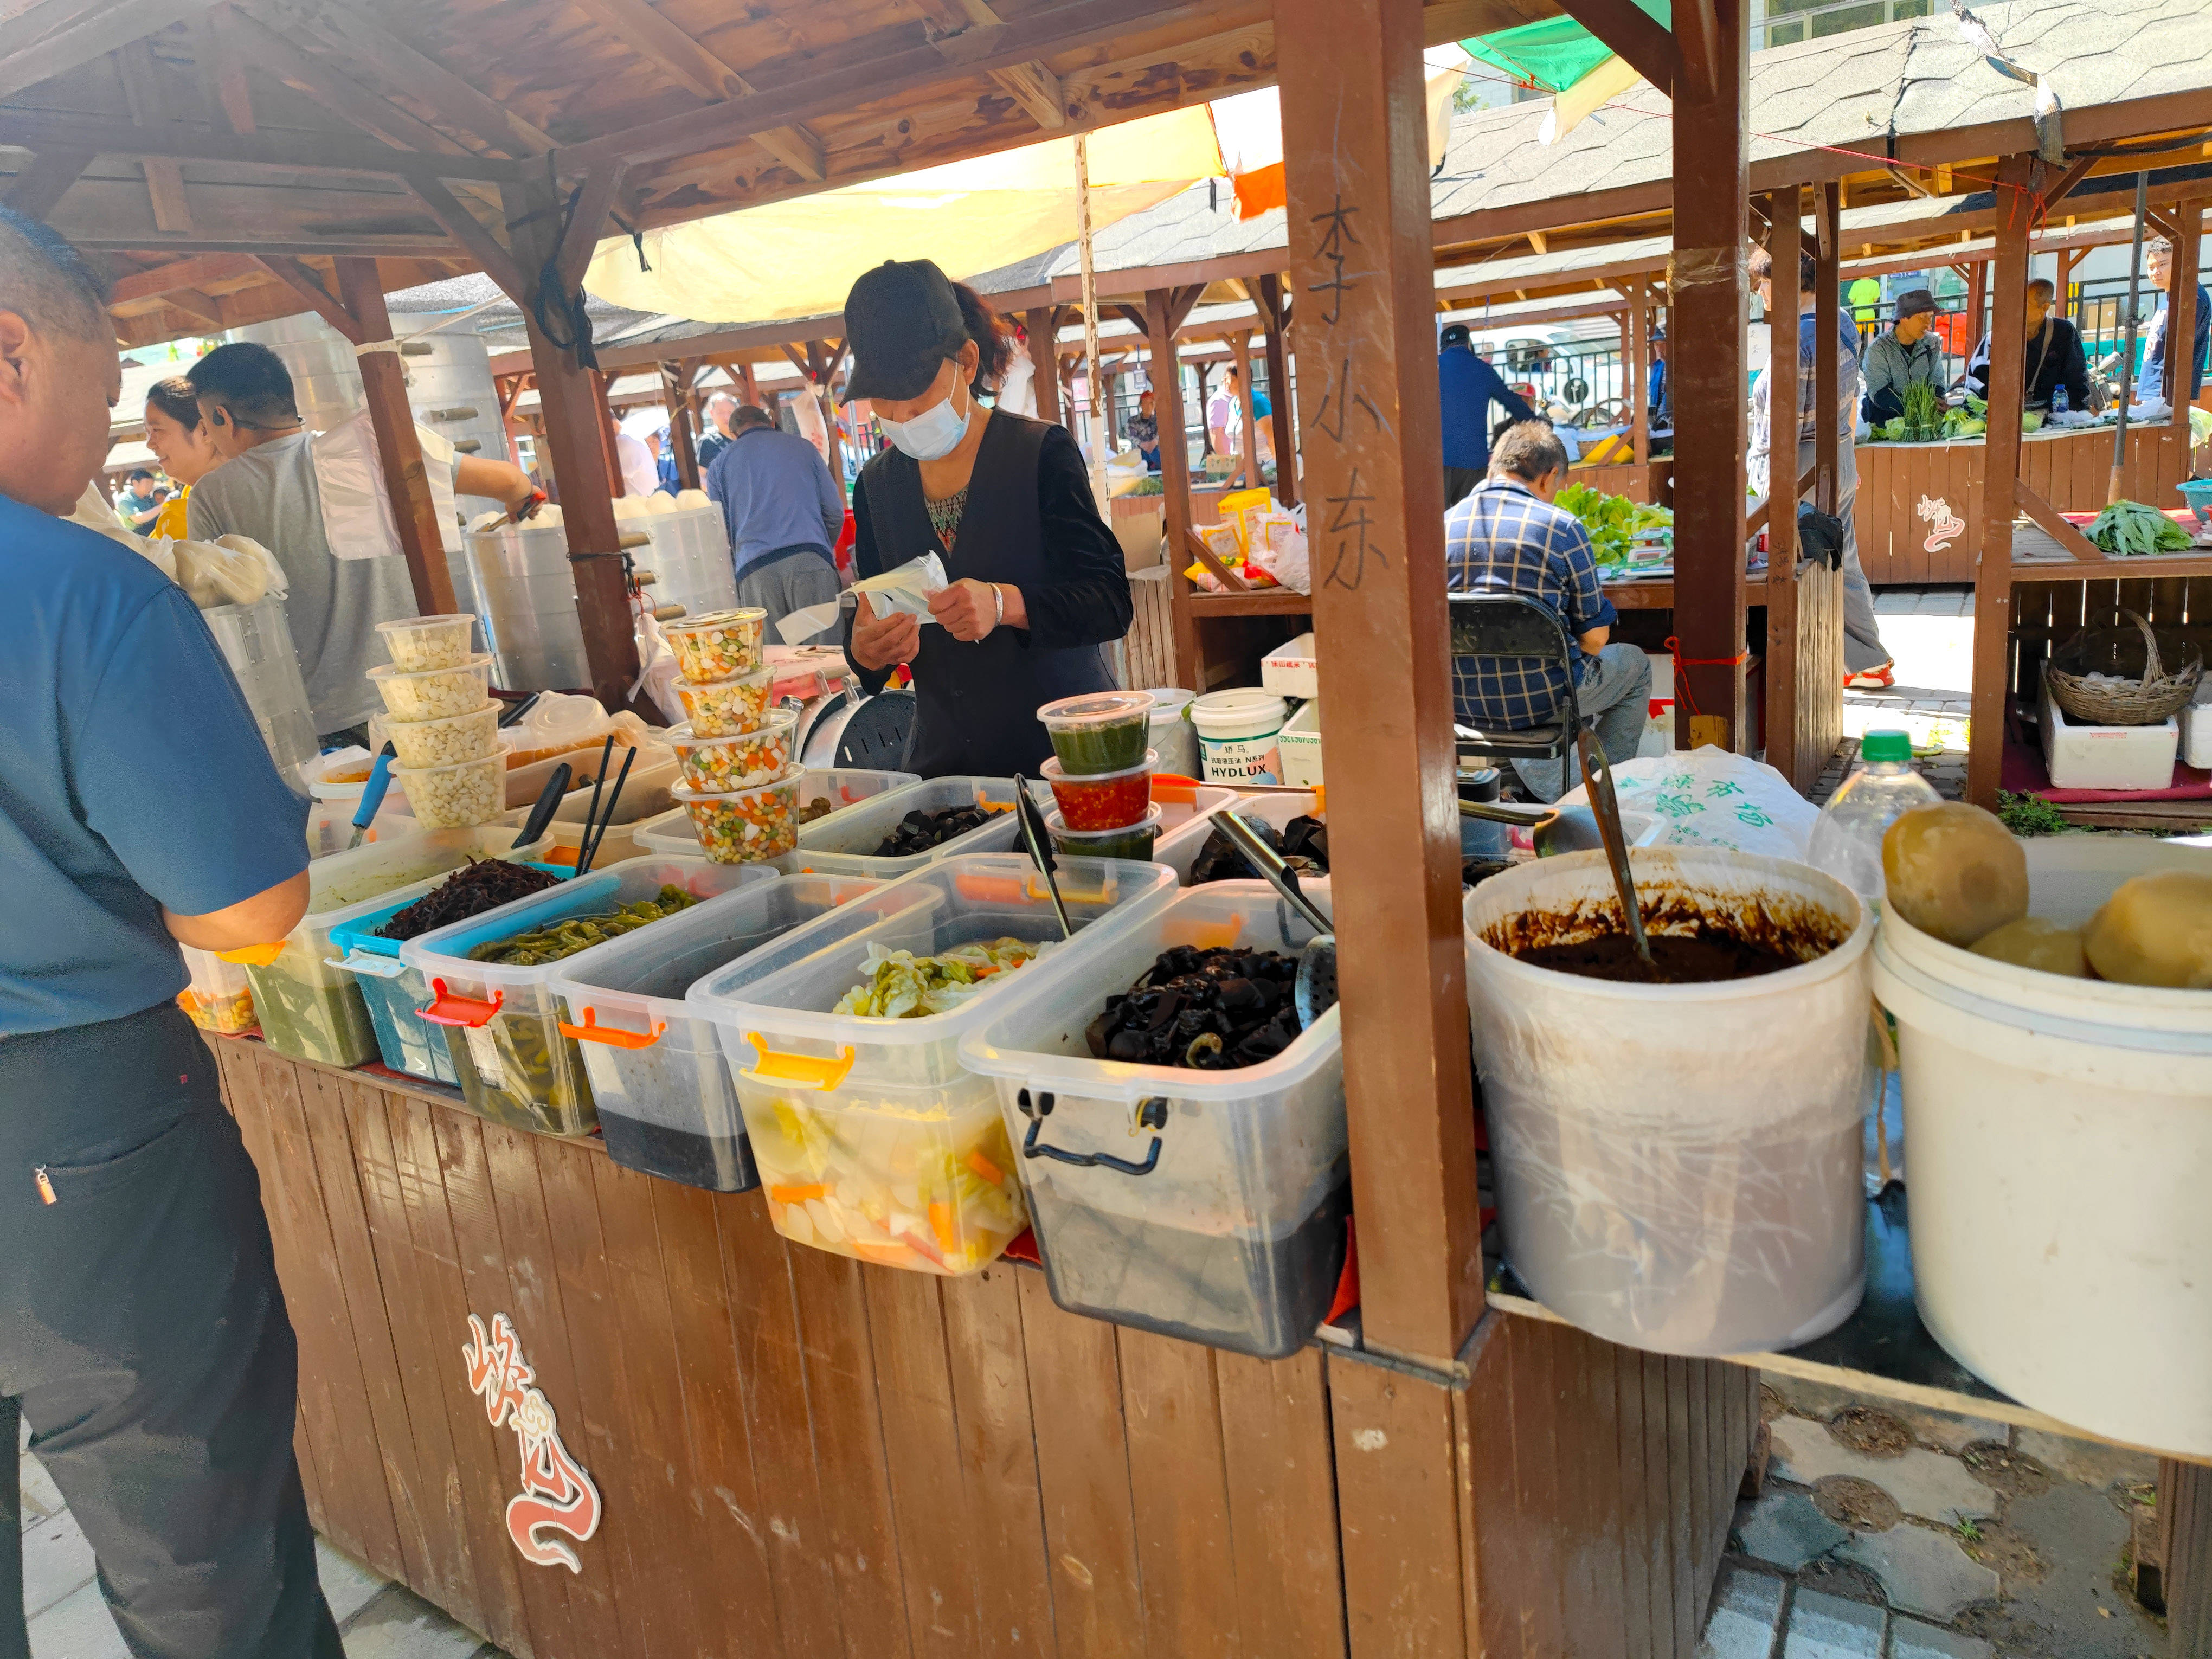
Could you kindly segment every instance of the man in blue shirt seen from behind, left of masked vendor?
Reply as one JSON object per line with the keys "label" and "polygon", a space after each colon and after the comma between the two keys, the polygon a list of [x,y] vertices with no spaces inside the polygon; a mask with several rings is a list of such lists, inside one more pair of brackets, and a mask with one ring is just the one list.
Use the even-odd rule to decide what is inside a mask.
{"label": "man in blue shirt seen from behind, left of masked vendor", "polygon": [[[776,624],[838,595],[832,549],[845,533],[845,491],[830,462],[796,431],[783,431],[768,409],[745,405],[703,482],[730,531],[737,602],[768,613],[770,639],[814,644],[785,641]],[[841,633],[830,633],[821,644],[838,639]]]}

